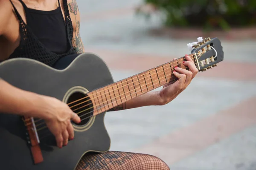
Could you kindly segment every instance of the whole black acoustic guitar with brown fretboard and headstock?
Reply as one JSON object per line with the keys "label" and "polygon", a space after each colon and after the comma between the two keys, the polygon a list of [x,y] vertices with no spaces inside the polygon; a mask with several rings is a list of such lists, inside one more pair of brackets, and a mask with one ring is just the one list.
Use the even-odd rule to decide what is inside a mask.
{"label": "whole black acoustic guitar with brown fretboard and headstock", "polygon": [[[198,38],[188,44],[199,71],[217,66],[224,58],[218,38]],[[16,58],[0,63],[0,77],[17,88],[52,96],[79,115],[72,122],[75,138],[58,148],[43,119],[0,113],[1,170],[73,170],[87,152],[107,152],[111,140],[105,113],[134,97],[176,81],[175,66],[186,68],[185,57],[113,82],[106,63],[91,53],[66,56],[49,67],[34,59]],[[188,68],[186,68],[188,69]]]}

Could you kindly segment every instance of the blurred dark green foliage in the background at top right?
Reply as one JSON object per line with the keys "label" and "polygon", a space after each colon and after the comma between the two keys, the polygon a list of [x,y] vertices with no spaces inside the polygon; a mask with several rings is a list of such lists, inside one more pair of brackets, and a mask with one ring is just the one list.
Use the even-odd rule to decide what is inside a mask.
{"label": "blurred dark green foliage in the background at top right", "polygon": [[256,0],[144,0],[163,11],[166,26],[228,30],[256,25]]}

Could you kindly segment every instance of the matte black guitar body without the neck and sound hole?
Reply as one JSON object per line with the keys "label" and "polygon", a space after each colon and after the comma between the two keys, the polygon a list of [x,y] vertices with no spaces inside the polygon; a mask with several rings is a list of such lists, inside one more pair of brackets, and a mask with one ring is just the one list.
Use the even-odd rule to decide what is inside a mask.
{"label": "matte black guitar body without the neck and sound hole", "polygon": [[[17,88],[53,96],[64,102],[113,83],[108,66],[95,54],[64,57],[54,68],[32,59],[9,59],[0,63],[0,77]],[[85,153],[109,150],[111,142],[104,116],[102,113],[79,125],[73,124],[75,138],[61,149],[56,146],[52,135],[41,139],[43,130],[38,130],[44,161],[34,164],[23,119],[0,113],[0,169],[74,170]]]}

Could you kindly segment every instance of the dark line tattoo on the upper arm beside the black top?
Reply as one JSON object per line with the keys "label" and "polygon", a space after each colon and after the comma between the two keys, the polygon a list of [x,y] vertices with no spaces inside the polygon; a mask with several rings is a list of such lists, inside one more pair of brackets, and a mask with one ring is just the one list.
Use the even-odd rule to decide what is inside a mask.
{"label": "dark line tattoo on the upper arm beside the black top", "polygon": [[72,45],[75,48],[76,53],[83,53],[84,45],[80,36],[80,21],[76,19],[79,8],[77,6],[76,0],[72,0],[72,3],[69,3],[68,5],[70,7],[70,12],[75,15],[76,20],[75,36],[72,39]]}

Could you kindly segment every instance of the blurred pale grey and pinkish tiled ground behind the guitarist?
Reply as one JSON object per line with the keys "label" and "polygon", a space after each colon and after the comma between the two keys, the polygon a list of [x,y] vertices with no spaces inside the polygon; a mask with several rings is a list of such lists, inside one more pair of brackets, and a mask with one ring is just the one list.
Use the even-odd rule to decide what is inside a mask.
{"label": "blurred pale grey and pinkish tiled ground behind the guitarist", "polygon": [[[134,16],[140,0],[77,2],[86,51],[99,54],[116,81],[189,54],[186,44],[197,38],[151,36],[160,22]],[[256,40],[218,38],[224,61],[171,103],[107,113],[111,150],[152,154],[172,170],[256,170]]]}

